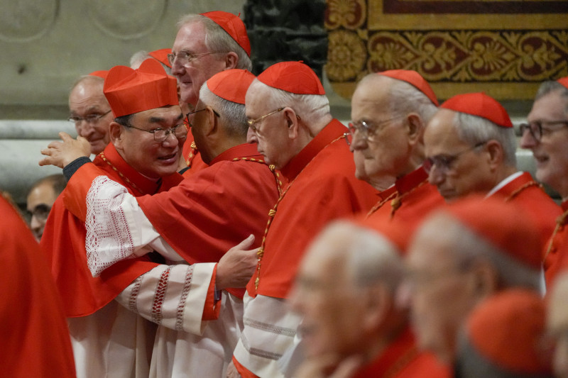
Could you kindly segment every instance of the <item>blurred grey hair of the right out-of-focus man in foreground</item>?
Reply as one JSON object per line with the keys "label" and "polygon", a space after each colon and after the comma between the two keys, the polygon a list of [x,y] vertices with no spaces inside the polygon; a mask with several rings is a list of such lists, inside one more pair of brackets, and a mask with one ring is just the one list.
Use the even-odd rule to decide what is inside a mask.
{"label": "blurred grey hair of the right out-of-focus man in foreground", "polygon": [[[441,213],[435,217],[451,216]],[[502,289],[510,287],[525,287],[540,290],[540,271],[524,265],[522,262],[510,257],[507,252],[480,237],[461,222],[454,220],[444,228],[446,235],[452,235],[455,245],[454,257],[458,267],[468,267],[478,260],[488,261],[499,274],[499,284]],[[534,251],[539,253],[539,251]]]}

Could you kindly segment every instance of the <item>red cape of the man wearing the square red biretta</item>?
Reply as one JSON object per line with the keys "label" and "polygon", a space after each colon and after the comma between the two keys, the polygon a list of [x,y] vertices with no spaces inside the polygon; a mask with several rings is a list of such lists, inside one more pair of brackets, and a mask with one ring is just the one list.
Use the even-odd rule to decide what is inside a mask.
{"label": "red cape of the man wearing the square red biretta", "polygon": [[[133,196],[166,191],[183,179],[180,174],[175,173],[162,177],[160,182],[153,182],[128,165],[112,144],[107,145],[107,148],[97,155],[94,165],[102,169],[103,172],[99,174],[106,174],[124,185]],[[90,186],[90,182],[86,184]],[[80,215],[80,218],[68,208]],[[84,209],[84,198],[69,198],[67,190],[64,190],[53,204],[40,242],[41,249],[48,258],[67,317],[87,316],[98,311],[134,279],[157,265],[144,256],[118,262],[106,269],[100,277],[92,277],[87,268]]]}

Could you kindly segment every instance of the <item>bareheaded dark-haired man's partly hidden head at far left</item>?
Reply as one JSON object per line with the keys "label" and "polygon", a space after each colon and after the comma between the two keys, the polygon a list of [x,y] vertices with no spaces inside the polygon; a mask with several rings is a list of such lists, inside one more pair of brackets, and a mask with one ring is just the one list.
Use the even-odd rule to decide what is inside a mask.
{"label": "bareheaded dark-haired man's partly hidden head at far left", "polygon": [[41,240],[45,222],[48,220],[51,206],[65,189],[67,180],[62,174],[51,174],[34,182],[26,201],[30,216],[30,228],[35,240]]}

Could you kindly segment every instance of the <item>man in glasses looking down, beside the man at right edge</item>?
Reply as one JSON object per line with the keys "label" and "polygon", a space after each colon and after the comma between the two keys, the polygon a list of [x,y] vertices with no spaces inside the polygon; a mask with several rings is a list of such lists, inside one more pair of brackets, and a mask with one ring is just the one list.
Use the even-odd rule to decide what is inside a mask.
{"label": "man in glasses looking down, beside the man at right edge", "polygon": [[507,111],[484,93],[459,94],[440,108],[424,135],[430,182],[447,201],[477,193],[519,204],[535,220],[544,245],[561,211],[530,173],[517,170]]}

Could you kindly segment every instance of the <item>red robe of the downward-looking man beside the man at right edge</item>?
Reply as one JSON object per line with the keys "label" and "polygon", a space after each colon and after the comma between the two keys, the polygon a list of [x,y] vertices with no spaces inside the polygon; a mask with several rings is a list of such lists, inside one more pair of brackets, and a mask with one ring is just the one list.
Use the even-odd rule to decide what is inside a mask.
{"label": "red robe of the downward-looking man beside the man at right edge", "polygon": [[[547,273],[557,260],[557,251],[549,253],[545,257],[552,231],[556,226],[556,219],[562,213],[562,209],[553,201],[540,185],[532,179],[528,172],[508,182],[504,187],[496,191],[493,196],[503,196],[505,201],[510,201],[532,216],[538,226],[538,233],[542,240],[542,263],[545,269],[545,279],[550,283],[552,271]],[[548,286],[548,285],[547,285]]]}

